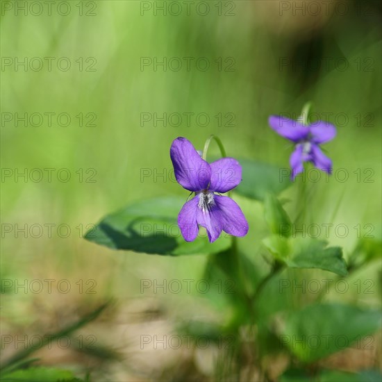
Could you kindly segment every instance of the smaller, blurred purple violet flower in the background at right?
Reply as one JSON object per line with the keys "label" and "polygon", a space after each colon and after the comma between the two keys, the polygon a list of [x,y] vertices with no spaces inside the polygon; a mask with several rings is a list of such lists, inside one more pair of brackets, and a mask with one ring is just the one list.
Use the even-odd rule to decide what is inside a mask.
{"label": "smaller, blurred purple violet flower in the background at right", "polygon": [[282,137],[296,143],[289,160],[292,180],[304,171],[304,162],[311,162],[317,169],[331,174],[333,166],[331,159],[324,155],[319,144],[329,142],[335,137],[336,131],[332,124],[317,121],[306,126],[293,119],[271,115],[269,126]]}

